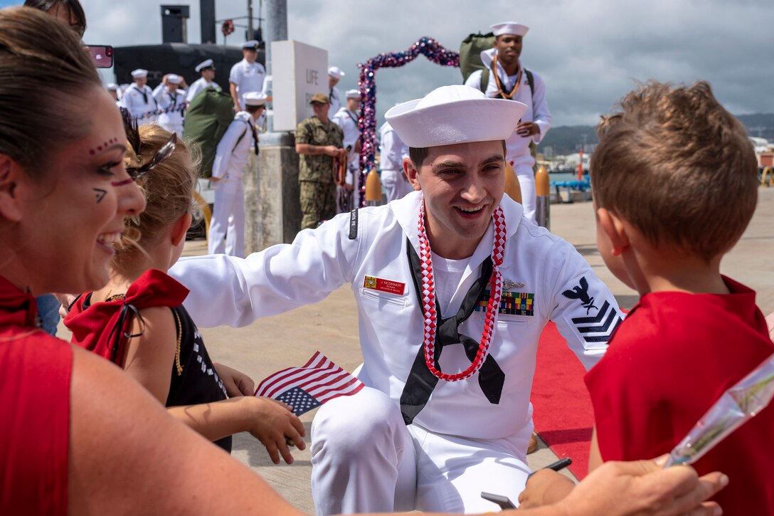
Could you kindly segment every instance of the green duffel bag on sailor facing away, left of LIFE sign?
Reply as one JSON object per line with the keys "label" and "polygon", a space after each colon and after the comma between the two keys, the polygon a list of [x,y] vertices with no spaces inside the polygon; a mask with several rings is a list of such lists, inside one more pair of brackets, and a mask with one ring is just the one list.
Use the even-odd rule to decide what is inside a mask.
{"label": "green duffel bag on sailor facing away, left of LIFE sign", "polygon": [[188,105],[183,138],[196,142],[201,150],[201,177],[212,177],[217,144],[234,121],[231,95],[207,87]]}

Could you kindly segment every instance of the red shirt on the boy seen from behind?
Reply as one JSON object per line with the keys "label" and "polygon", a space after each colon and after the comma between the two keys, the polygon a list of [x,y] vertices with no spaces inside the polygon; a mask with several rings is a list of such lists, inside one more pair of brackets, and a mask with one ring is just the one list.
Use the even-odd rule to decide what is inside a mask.
{"label": "red shirt on the boy seen from behind", "polygon": [[[728,387],[774,353],[755,292],[642,296],[585,377],[603,460],[669,453]],[[728,435],[694,467],[731,480],[724,514],[774,514],[774,407]]]}

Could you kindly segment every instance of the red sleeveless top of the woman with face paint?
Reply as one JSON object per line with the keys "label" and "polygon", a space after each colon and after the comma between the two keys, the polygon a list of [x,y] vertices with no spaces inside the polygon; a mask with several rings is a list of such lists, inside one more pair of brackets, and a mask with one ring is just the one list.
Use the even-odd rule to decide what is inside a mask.
{"label": "red sleeveless top of the woman with face paint", "polygon": [[70,345],[0,277],[0,514],[67,514]]}

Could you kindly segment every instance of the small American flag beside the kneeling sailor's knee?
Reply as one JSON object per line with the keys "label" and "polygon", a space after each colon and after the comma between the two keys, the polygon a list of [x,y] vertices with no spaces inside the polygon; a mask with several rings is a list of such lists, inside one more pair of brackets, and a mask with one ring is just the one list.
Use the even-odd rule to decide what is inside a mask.
{"label": "small American flag beside the kneeling sailor's knee", "polygon": [[359,392],[363,383],[317,351],[301,367],[289,367],[266,377],[255,396],[272,397],[302,415],[339,396]]}

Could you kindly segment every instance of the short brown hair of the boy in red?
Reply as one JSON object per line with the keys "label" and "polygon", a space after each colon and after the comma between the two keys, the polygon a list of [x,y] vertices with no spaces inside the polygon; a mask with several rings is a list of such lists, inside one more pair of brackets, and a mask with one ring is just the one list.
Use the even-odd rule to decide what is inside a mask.
{"label": "short brown hair of the boy in red", "polygon": [[651,81],[603,116],[591,156],[594,201],[659,249],[711,260],[752,218],[758,164],[744,126],[699,81]]}

